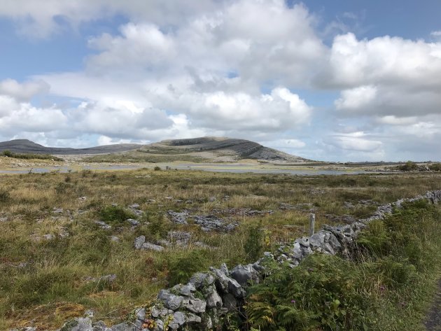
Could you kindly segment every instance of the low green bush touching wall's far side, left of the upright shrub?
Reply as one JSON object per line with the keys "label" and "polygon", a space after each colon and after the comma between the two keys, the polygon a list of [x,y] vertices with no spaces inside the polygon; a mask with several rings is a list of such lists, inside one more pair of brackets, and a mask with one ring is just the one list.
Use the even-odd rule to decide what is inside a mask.
{"label": "low green bush touching wall's far side, left of the upright shrub", "polygon": [[170,286],[186,283],[195,272],[207,269],[209,256],[207,251],[195,249],[176,253],[168,260],[168,281]]}

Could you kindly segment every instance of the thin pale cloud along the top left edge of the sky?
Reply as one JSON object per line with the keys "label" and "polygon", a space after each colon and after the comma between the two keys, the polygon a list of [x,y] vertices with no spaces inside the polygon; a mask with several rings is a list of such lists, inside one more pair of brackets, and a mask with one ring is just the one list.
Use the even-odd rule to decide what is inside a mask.
{"label": "thin pale cloud along the top left edge of the sky", "polygon": [[193,15],[215,10],[215,0],[45,0],[44,6],[36,1],[6,0],[1,3],[0,16],[18,24],[20,34],[33,38],[48,38],[68,27],[77,29],[91,20],[105,19],[123,14],[134,21],[179,24]]}

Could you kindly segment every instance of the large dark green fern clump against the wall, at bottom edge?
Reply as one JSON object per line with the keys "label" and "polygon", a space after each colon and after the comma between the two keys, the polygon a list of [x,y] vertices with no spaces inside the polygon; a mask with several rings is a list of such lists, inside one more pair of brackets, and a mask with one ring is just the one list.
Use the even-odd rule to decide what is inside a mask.
{"label": "large dark green fern clump against the wall, at bottom edge", "polygon": [[360,270],[335,256],[311,255],[251,288],[248,321],[261,330],[363,330],[367,302],[357,292]]}

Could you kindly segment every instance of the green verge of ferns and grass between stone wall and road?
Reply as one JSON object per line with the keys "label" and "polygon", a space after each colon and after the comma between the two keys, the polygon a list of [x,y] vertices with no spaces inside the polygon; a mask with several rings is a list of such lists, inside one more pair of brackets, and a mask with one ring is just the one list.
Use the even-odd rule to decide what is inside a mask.
{"label": "green verge of ferns and grass between stone wall and road", "polygon": [[248,290],[251,330],[425,330],[440,234],[440,206],[416,202],[370,223],[353,260],[316,254],[295,269],[272,266]]}

